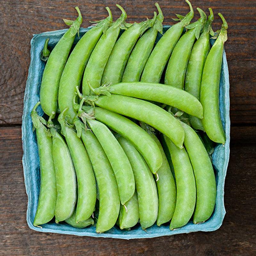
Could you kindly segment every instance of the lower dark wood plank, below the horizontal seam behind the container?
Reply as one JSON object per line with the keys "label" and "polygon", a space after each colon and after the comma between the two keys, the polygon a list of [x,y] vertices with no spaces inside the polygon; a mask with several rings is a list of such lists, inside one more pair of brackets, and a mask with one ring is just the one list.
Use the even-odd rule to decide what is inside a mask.
{"label": "lower dark wood plank, below the horizontal seam behind the container", "polygon": [[231,129],[225,183],[227,214],[219,230],[125,241],[30,230],[26,223],[21,129],[1,127],[0,255],[255,255],[255,134],[256,127]]}

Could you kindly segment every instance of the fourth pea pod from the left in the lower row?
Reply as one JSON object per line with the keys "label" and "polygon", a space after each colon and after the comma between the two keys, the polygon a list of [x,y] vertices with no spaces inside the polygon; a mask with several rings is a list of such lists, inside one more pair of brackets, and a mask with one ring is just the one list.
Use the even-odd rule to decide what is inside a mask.
{"label": "fourth pea pod from the left in the lower row", "polygon": [[120,198],[113,169],[108,158],[91,131],[83,131],[81,136],[90,157],[99,190],[99,216],[96,232],[102,233],[112,228],[119,215]]}

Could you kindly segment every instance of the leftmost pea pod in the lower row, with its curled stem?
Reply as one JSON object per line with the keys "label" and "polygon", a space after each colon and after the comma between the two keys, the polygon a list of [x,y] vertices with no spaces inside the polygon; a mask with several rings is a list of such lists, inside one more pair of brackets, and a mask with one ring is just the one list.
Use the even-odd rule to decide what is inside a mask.
{"label": "leftmost pea pod in the lower row, with its curled stem", "polygon": [[52,138],[47,135],[47,128],[44,126],[46,121],[38,116],[36,108],[37,102],[31,111],[33,128],[36,129],[36,141],[40,161],[40,193],[34,226],[38,226],[52,220],[56,204],[56,179],[55,169],[52,158]]}

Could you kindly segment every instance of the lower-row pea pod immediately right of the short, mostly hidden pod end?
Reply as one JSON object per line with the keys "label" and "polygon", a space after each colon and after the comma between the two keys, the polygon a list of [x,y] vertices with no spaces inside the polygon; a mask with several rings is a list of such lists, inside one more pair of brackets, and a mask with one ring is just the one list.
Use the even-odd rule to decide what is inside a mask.
{"label": "lower-row pea pod immediately right of the short, mostly hidden pod end", "polygon": [[143,230],[152,226],[157,219],[158,197],[156,183],[143,157],[124,137],[118,137],[120,145],[128,156],[134,173],[138,193],[139,219]]}

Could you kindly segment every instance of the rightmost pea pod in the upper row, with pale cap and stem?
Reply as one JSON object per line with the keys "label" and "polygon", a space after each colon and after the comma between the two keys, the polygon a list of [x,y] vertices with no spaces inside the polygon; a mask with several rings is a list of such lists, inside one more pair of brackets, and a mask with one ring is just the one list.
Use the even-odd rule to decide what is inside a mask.
{"label": "rightmost pea pod in the upper row, with pale cap and stem", "polygon": [[224,43],[228,39],[228,24],[221,13],[218,13],[218,15],[223,23],[217,34],[218,38],[207,55],[204,64],[200,102],[204,108],[202,123],[205,132],[214,142],[225,144],[225,132],[220,119],[219,90]]}

